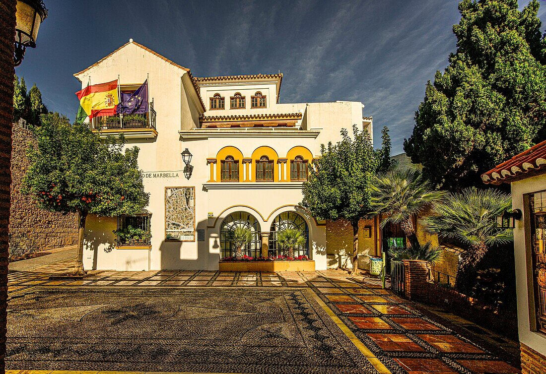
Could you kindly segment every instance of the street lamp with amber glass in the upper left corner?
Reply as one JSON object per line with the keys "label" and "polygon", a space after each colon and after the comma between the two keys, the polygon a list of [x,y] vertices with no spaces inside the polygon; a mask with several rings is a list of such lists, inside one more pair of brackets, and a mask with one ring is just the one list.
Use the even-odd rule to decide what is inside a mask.
{"label": "street lamp with amber glass in the upper left corner", "polygon": [[48,17],[48,9],[41,0],[17,0],[16,9],[13,62],[15,66],[19,66],[25,58],[26,48],[36,48],[38,29],[40,23]]}

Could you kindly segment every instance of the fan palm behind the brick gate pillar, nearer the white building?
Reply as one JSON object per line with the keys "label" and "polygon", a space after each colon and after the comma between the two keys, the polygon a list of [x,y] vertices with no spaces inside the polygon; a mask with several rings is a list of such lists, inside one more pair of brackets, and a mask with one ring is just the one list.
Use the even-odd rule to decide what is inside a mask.
{"label": "fan palm behind the brick gate pillar, nearer the white building", "polygon": [[413,218],[432,203],[442,199],[444,191],[436,191],[417,169],[389,170],[378,173],[372,183],[371,204],[375,213],[385,213],[381,228],[389,222],[400,224],[410,239],[418,244]]}

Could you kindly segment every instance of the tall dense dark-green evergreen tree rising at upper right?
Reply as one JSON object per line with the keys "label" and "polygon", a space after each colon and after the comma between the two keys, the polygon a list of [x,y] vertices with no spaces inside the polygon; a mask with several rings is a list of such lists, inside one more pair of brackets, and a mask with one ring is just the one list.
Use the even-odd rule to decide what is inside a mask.
{"label": "tall dense dark-green evergreen tree rising at upper right", "polygon": [[[546,39],[532,0],[464,0],[457,50],[426,85],[404,150],[436,186],[479,175],[546,138]],[[483,187],[483,186],[480,186]]]}

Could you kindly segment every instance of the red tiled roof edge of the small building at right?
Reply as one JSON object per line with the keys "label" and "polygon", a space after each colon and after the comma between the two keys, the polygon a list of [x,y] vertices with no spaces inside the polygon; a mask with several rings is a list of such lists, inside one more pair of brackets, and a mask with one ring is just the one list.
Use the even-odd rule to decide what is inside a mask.
{"label": "red tiled roof edge of the small building at right", "polygon": [[537,171],[546,173],[546,140],[482,174],[482,181],[500,185],[522,179],[524,173],[538,174]]}

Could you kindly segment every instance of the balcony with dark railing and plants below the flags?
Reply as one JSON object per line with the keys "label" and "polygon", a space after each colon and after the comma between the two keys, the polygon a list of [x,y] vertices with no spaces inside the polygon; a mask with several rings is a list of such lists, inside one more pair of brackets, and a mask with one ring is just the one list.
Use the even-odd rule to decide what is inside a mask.
{"label": "balcony with dark railing and plants below the flags", "polygon": [[150,139],[157,136],[156,111],[150,106],[145,114],[125,114],[95,117],[91,129],[102,138],[123,134],[127,139]]}

